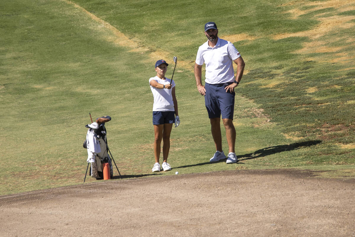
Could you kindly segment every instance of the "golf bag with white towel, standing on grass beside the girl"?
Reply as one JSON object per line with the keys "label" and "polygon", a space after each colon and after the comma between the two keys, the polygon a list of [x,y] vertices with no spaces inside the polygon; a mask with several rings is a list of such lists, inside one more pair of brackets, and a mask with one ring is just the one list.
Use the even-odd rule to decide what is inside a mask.
{"label": "golf bag with white towel, standing on grass beside the girl", "polygon": [[104,177],[103,163],[109,163],[110,178],[113,177],[111,157],[108,154],[105,122],[100,124],[94,122],[92,124],[86,125],[88,131],[86,134],[86,140],[83,144],[83,147],[86,148],[88,152],[87,162],[91,165],[89,173],[91,177],[97,179]]}

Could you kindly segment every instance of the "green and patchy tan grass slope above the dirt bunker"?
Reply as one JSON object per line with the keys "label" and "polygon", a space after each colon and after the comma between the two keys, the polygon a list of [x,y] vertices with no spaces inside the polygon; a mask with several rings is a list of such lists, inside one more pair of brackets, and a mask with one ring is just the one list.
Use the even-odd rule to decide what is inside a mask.
{"label": "green and patchy tan grass slope above the dirt bunker", "polygon": [[[173,56],[181,118],[171,134],[174,171],[307,168],[354,177],[355,5],[323,3],[1,2],[0,144],[6,165],[0,195],[82,183],[89,112],[93,119],[112,117],[108,145],[125,178],[175,173],[150,172],[148,85],[155,61],[169,63]],[[234,116],[240,162],[228,166],[208,162],[214,144],[192,71],[206,41],[203,24],[211,20],[221,38],[236,39],[246,61]],[[329,24],[334,27],[324,28]],[[240,34],[250,39],[240,40]]]}

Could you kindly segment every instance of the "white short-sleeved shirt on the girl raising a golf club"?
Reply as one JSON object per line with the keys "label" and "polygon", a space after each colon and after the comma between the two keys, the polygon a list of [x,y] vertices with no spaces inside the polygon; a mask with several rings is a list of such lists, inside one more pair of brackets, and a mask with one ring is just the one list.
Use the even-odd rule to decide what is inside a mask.
{"label": "white short-sleeved shirt on the girl raising a golf club", "polygon": [[[160,79],[158,76],[151,77],[149,79],[149,85],[151,80],[157,81],[159,84],[170,84],[171,79],[166,78],[166,80]],[[173,96],[171,95],[171,90],[175,86],[175,81],[171,83],[170,89],[158,89],[154,86],[150,86],[154,103],[153,103],[153,111],[175,111]]]}

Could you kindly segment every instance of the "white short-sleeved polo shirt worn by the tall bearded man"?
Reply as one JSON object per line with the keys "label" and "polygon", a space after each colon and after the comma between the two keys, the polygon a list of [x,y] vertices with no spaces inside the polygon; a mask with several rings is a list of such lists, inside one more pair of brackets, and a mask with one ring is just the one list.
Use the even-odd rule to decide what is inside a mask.
{"label": "white short-sleeved polo shirt worn by the tall bearded man", "polygon": [[218,38],[217,44],[209,47],[208,41],[197,51],[196,64],[206,64],[206,80],[209,84],[219,84],[234,81],[233,61],[240,57],[234,45]]}

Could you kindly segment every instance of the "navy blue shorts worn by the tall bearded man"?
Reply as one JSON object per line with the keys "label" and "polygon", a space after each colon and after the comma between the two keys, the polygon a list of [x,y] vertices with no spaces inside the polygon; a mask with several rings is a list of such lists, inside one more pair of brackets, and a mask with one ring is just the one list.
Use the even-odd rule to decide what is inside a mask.
{"label": "navy blue shorts worn by the tall bearded man", "polygon": [[207,108],[208,118],[220,118],[222,114],[222,119],[233,119],[235,92],[225,92],[224,89],[232,83],[205,83],[206,95],[204,96],[204,104]]}

